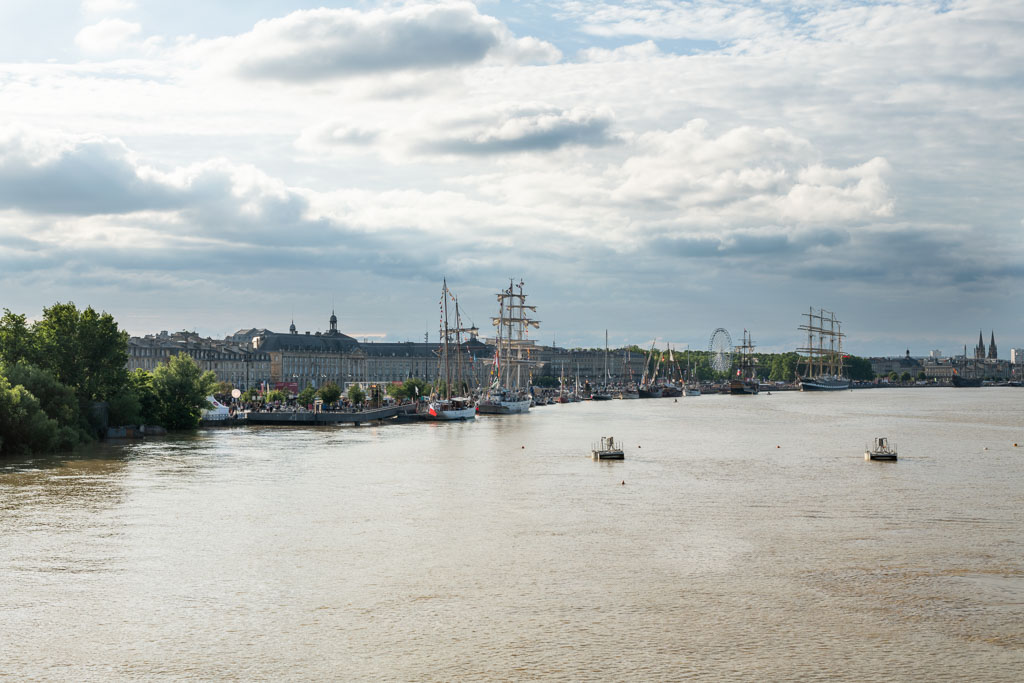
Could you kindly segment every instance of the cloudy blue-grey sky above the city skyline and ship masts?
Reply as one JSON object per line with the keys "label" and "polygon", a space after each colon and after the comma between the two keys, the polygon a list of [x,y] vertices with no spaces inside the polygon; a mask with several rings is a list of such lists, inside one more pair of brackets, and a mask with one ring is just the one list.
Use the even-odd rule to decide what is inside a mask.
{"label": "cloudy blue-grey sky above the city skyline and ship masts", "polygon": [[0,308],[1024,347],[1024,2],[0,3]]}

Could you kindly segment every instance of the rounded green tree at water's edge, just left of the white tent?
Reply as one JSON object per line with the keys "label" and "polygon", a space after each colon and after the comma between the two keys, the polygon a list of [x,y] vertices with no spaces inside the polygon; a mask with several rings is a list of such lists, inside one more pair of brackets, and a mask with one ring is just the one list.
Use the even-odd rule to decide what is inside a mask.
{"label": "rounded green tree at water's edge, just left of the white tent", "polygon": [[203,372],[187,353],[168,358],[153,372],[159,401],[160,424],[168,429],[195,429],[210,408],[207,397],[217,386],[217,376]]}

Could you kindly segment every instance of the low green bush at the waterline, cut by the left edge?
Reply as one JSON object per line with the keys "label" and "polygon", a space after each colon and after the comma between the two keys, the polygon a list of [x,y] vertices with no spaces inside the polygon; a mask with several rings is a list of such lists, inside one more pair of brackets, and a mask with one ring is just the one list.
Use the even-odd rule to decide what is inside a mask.
{"label": "low green bush at the waterline, cut by the left edge", "polygon": [[0,455],[68,450],[78,440],[77,429],[46,417],[31,391],[0,376]]}

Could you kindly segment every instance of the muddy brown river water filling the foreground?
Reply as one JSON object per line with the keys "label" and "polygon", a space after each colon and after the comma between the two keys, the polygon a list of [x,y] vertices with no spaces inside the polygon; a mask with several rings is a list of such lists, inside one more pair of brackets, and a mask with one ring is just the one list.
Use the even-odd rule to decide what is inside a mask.
{"label": "muddy brown river water filling the foreground", "polygon": [[[591,461],[602,435],[624,462]],[[899,462],[864,461],[881,435]],[[587,402],[0,462],[5,677],[1020,681],[1024,390]]]}

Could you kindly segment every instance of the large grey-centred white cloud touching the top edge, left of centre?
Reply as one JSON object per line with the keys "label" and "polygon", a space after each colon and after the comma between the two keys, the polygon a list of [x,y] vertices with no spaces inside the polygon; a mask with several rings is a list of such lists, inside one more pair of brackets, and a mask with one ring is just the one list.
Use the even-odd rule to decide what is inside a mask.
{"label": "large grey-centred white cloud touching the top edge, left of centre", "polygon": [[296,83],[485,59],[549,63],[561,56],[549,43],[515,38],[501,22],[463,2],[296,11],[259,22],[214,49],[245,78]]}

